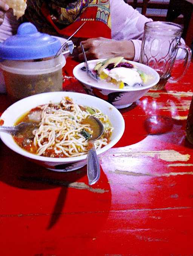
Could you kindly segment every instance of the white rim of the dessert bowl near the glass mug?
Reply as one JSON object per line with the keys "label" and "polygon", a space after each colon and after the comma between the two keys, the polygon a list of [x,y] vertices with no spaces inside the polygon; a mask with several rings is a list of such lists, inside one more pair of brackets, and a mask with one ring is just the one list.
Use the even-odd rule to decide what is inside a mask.
{"label": "white rim of the dessert bowl near the glass mug", "polygon": [[[88,64],[89,63],[93,63],[93,62],[100,62],[100,61],[103,61],[103,60],[106,60],[106,59],[95,59],[95,60],[88,60]],[[95,88],[98,88],[98,89],[104,89],[104,90],[109,90],[109,91],[121,91],[121,92],[132,92],[132,91],[142,91],[142,90],[145,90],[145,89],[149,89],[149,88],[152,88],[154,85],[156,85],[158,82],[159,82],[159,74],[157,71],[155,71],[155,69],[147,66],[147,65],[144,65],[142,63],[139,63],[139,62],[134,62],[132,60],[129,60],[130,63],[132,64],[135,64],[136,66],[144,66],[146,69],[150,69],[154,74],[155,74],[155,81],[153,83],[151,83],[150,85],[147,85],[147,86],[144,86],[144,87],[140,87],[140,88],[132,88],[130,87],[130,89],[119,89],[119,88],[107,88],[105,86],[97,86],[96,84],[90,84],[89,82],[86,82],[85,80],[81,79],[78,75],[77,75],[77,72],[80,70],[80,68],[82,68],[84,66],[84,62],[81,62],[79,63],[77,66],[74,67],[73,69],[73,75],[75,76],[76,79],[78,79],[81,83],[84,83],[86,85],[89,85],[89,86],[92,86],[92,87],[95,87]]]}

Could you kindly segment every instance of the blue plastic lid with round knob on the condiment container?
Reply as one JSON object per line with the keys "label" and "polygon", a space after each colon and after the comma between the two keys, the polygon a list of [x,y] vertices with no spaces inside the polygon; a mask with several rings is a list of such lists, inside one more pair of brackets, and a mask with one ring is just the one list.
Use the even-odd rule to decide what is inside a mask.
{"label": "blue plastic lid with round knob on the condiment container", "polygon": [[0,58],[4,60],[32,60],[54,56],[61,47],[55,37],[37,31],[30,22],[22,23],[17,34],[0,43]]}

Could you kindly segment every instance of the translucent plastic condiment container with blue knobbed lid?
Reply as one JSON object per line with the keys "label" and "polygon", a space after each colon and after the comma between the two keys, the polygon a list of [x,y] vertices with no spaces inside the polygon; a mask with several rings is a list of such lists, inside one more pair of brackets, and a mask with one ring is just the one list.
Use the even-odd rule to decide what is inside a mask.
{"label": "translucent plastic condiment container with blue knobbed lid", "polygon": [[63,54],[54,58],[60,47],[60,40],[38,32],[29,22],[22,23],[16,35],[0,44],[0,68],[12,101],[62,90],[66,59]]}

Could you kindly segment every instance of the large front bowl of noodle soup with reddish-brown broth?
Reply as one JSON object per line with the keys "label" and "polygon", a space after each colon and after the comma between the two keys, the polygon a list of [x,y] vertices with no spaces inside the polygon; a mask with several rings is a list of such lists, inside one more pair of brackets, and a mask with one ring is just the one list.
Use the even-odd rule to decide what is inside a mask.
{"label": "large front bowl of noodle soup with reddish-brown broth", "polygon": [[87,163],[87,135],[92,130],[84,121],[91,115],[100,119],[105,128],[103,136],[95,140],[100,155],[119,141],[124,119],[110,103],[87,94],[50,92],[15,102],[0,119],[5,126],[35,119],[32,137],[0,132],[0,138],[11,150],[50,170],[77,170]]}

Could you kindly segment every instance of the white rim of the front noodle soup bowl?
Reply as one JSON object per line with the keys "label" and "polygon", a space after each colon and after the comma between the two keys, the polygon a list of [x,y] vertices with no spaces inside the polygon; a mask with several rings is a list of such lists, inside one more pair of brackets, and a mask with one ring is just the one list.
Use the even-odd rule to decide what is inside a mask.
{"label": "white rim of the front noodle soup bowl", "polygon": [[[69,97],[72,97],[73,98],[73,95],[77,95],[77,96],[82,96],[83,93],[76,93],[76,92],[68,92],[68,91],[60,91],[60,92],[48,92],[48,93],[40,93],[40,94],[35,94],[35,95],[32,95],[32,96],[29,96],[29,97],[25,97],[21,100],[18,100],[17,102],[13,103],[12,105],[10,105],[3,113],[2,115],[0,116],[0,119],[5,119],[6,118],[6,113],[9,113],[9,111],[11,111],[11,109],[13,109],[15,106],[17,106],[18,104],[19,105],[23,105],[23,102],[25,101],[33,101],[36,97],[43,97],[44,95],[54,95],[54,94],[63,94],[63,96],[61,97],[64,97],[66,94],[66,96],[69,96]],[[124,130],[125,130],[125,122],[124,122],[124,119],[123,119],[123,116],[122,114],[118,111],[118,109],[115,108],[115,106],[111,105],[109,102],[106,102],[105,100],[102,100],[100,98],[97,98],[95,96],[91,96],[89,94],[85,94],[86,97],[89,97],[90,99],[92,98],[95,98],[97,99],[99,102],[103,102],[105,105],[106,105],[106,108],[112,108],[112,111],[113,113],[116,113],[117,116],[119,116],[119,128],[120,128],[120,132],[117,134],[117,136],[110,141],[109,144],[107,144],[106,146],[104,146],[103,148],[101,148],[100,150],[96,150],[96,154],[99,155],[99,154],[102,154],[104,153],[105,151],[109,150],[110,148],[112,148],[120,139],[121,137],[123,136],[123,133],[124,133]],[[50,99],[51,100],[51,99]],[[35,100],[34,100],[35,102]],[[44,104],[44,103],[43,103]],[[38,104],[34,103],[34,107],[37,106]],[[33,107],[29,108],[32,109]],[[28,110],[27,110],[28,111]],[[25,111],[25,112],[27,112]],[[24,113],[25,113],[24,112]],[[23,113],[23,114],[24,114]],[[22,113],[21,115],[22,116]],[[14,124],[14,122],[17,120],[18,118],[16,118],[15,120],[13,120],[12,124]],[[58,163],[63,163],[63,162],[79,162],[81,160],[84,160],[86,159],[87,157],[87,154],[85,155],[82,155],[82,156],[75,156],[75,157],[63,157],[63,158],[59,158],[59,157],[44,157],[44,156],[38,156],[38,155],[35,155],[35,154],[32,154],[32,153],[29,153],[28,151],[25,151],[23,150],[21,147],[19,147],[17,145],[17,143],[14,141],[13,137],[12,137],[12,141],[9,142],[6,140],[6,137],[7,136],[11,136],[11,134],[8,134],[8,133],[5,133],[5,132],[0,132],[0,139],[2,140],[3,143],[5,143],[5,145],[10,148],[11,150],[13,150],[14,152],[24,156],[24,157],[28,157],[29,159],[34,159],[34,160],[39,160],[41,162],[58,162]]]}

